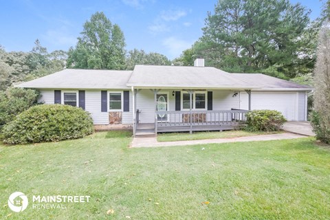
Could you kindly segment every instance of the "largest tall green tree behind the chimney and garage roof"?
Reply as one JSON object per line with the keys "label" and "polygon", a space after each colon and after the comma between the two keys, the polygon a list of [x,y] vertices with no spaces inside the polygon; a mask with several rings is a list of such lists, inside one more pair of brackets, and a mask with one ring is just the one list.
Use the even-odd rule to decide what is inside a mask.
{"label": "largest tall green tree behind the chimney and garage roof", "polygon": [[[195,55],[228,72],[263,72],[272,67],[287,77],[300,65],[300,39],[309,12],[289,0],[219,0],[208,13]],[[276,73],[274,73],[276,74]]]}

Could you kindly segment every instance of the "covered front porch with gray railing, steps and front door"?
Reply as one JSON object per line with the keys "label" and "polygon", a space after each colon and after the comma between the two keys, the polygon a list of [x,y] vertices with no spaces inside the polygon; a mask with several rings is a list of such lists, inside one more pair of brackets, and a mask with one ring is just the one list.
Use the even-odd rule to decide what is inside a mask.
{"label": "covered front porch with gray railing, steps and front door", "polygon": [[[251,93],[245,91],[249,95],[250,109]],[[245,124],[248,113],[248,110],[239,109],[237,90],[132,88],[132,92],[134,136],[232,130]]]}

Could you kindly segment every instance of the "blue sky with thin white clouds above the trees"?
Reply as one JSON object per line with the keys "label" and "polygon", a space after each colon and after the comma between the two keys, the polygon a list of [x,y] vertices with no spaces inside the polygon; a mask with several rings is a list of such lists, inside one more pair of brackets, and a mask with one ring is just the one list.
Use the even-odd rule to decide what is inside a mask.
{"label": "blue sky with thin white clouds above the trees", "polygon": [[[320,16],[319,0],[290,0]],[[202,36],[217,0],[0,0],[0,45],[7,52],[32,50],[39,39],[48,52],[75,46],[91,14],[104,12],[124,32],[126,50],[164,54],[171,60]]]}

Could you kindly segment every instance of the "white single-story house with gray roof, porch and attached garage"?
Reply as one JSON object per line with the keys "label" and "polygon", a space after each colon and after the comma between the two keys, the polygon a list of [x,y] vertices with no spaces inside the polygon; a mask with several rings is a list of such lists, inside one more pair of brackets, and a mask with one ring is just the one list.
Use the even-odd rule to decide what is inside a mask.
{"label": "white single-story house with gray roof, porch and attached garage", "polygon": [[307,120],[307,92],[263,74],[230,74],[204,67],[136,65],[133,71],[65,69],[17,85],[41,91],[45,104],[70,104],[91,113],[100,128],[129,127],[134,135],[233,129],[250,109],[281,111]]}

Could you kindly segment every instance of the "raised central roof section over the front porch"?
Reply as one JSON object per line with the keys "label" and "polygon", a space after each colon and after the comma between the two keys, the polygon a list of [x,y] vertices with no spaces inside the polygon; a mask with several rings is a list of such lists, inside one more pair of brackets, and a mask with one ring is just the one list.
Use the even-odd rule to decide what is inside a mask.
{"label": "raised central roof section over the front porch", "polygon": [[177,67],[135,65],[127,83],[134,87],[177,87],[177,88],[259,88],[256,83],[231,76],[214,67]]}

